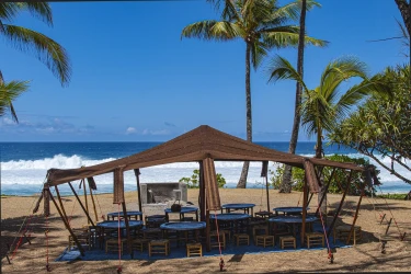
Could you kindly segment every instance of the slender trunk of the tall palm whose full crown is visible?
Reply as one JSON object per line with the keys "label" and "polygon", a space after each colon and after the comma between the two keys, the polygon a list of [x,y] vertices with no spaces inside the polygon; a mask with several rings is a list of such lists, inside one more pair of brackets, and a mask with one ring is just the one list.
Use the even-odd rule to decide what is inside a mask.
{"label": "slender trunk of the tall palm whose full crown is visible", "polygon": [[[247,140],[252,141],[252,116],[251,116],[251,77],[250,77],[250,44],[246,43],[246,123],[247,123]],[[247,176],[249,174],[250,162],[246,161],[242,165],[241,176],[237,184],[237,189],[246,189]]]}

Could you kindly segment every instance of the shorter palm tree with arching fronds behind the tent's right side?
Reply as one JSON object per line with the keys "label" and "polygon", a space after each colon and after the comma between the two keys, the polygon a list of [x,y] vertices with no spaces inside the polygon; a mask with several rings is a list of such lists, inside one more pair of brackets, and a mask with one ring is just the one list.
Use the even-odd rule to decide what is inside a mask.
{"label": "shorter palm tree with arching fronds behind the tent's right side", "polygon": [[[353,57],[331,61],[321,75],[320,85],[312,90],[307,88],[302,77],[289,61],[279,56],[272,60],[269,70],[270,81],[290,79],[301,83],[304,91],[300,107],[301,122],[308,136],[317,137],[316,158],[323,156],[323,133],[331,132],[335,123],[346,117],[351,109],[364,96],[380,91],[378,83],[368,79],[366,65]],[[345,92],[340,92],[341,84],[351,78],[361,78],[363,81]],[[323,195],[326,195],[324,187],[321,187],[319,199]],[[327,204],[327,201],[324,202],[322,205]]]}

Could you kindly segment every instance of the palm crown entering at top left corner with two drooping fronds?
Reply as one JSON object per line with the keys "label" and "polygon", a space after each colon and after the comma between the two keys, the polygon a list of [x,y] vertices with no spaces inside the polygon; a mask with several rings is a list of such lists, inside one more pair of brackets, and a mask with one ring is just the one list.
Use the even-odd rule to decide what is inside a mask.
{"label": "palm crown entering at top left corner with two drooping fronds", "polygon": [[53,26],[52,9],[46,2],[0,2],[0,35],[19,50],[35,53],[59,79],[68,84],[71,69],[66,49],[46,35],[23,26],[9,24],[19,13],[28,11],[35,18]]}

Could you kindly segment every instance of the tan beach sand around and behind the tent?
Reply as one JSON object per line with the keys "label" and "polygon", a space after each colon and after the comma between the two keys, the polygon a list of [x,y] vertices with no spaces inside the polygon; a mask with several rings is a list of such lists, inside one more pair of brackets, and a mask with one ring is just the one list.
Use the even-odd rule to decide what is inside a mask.
{"label": "tan beach sand around and behind the tent", "polygon": [[[82,196],[82,195],[81,195]],[[266,209],[265,190],[220,190],[221,204],[225,203],[254,203],[254,212]],[[83,197],[81,197],[83,199]],[[189,201],[197,205],[198,190],[189,190]],[[335,209],[341,201],[341,195],[328,195],[329,208]],[[136,192],[126,193],[127,209],[138,209]],[[297,206],[302,203],[301,194],[279,194],[270,191],[270,208],[278,206]],[[342,221],[352,224],[358,197],[347,196],[341,213]],[[36,197],[8,196],[1,198],[1,256],[2,271],[4,273],[46,273],[46,230],[45,218],[34,216],[31,218],[31,242],[23,240],[23,244],[15,252],[12,264],[5,260],[7,243],[13,242],[22,221],[31,215]],[[73,207],[75,197],[64,197],[64,205],[68,216],[72,216],[72,227],[81,227],[87,224],[87,218],[78,203]],[[116,212],[117,205],[113,205],[111,194],[96,195],[96,207],[103,214]],[[351,271],[411,271],[411,202],[387,201],[401,232],[407,232],[404,241],[399,240],[399,230],[393,224],[388,232],[386,254],[381,254],[379,235],[385,232],[386,226],[379,225],[380,214],[390,213],[384,199],[363,198],[359,216],[356,221],[363,229],[363,240],[352,248],[336,249],[334,263],[330,264],[326,250],[309,250],[281,253],[224,255],[226,269],[229,273],[266,273],[266,272],[351,272]],[[376,204],[375,204],[376,203]],[[93,262],[54,262],[68,242],[68,231],[52,205],[52,215],[48,217],[49,244],[48,256],[52,273],[116,273],[118,260],[93,261]],[[89,205],[91,206],[90,197]],[[311,212],[317,205],[317,195],[311,202]],[[374,206],[376,210],[374,210]],[[101,209],[100,209],[101,208]],[[43,212],[43,203],[39,213]],[[92,217],[93,218],[93,217]],[[330,219],[330,217],[329,217]],[[24,229],[24,227],[23,227]],[[16,241],[19,238],[16,239]],[[87,251],[85,251],[87,252]],[[190,258],[158,261],[127,260],[122,262],[123,273],[161,273],[161,272],[186,272],[209,273],[219,272],[219,259],[214,258]]]}

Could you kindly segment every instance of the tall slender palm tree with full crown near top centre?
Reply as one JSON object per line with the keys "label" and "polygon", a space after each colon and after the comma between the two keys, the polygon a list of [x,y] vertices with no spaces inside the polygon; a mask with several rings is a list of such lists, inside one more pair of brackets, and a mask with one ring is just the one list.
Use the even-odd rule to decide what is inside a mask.
{"label": "tall slender palm tree with full crown near top centre", "polygon": [[[220,1],[216,2],[219,5]],[[317,3],[307,1],[308,9]],[[278,7],[277,0],[226,0],[220,21],[205,20],[187,25],[182,37],[205,41],[246,42],[246,125],[247,140],[252,141],[250,66],[256,69],[271,48],[283,48],[298,44],[299,27],[286,24],[296,20],[300,2]],[[308,44],[323,46],[324,42],[306,36]],[[244,162],[237,187],[244,189],[249,162]]]}

